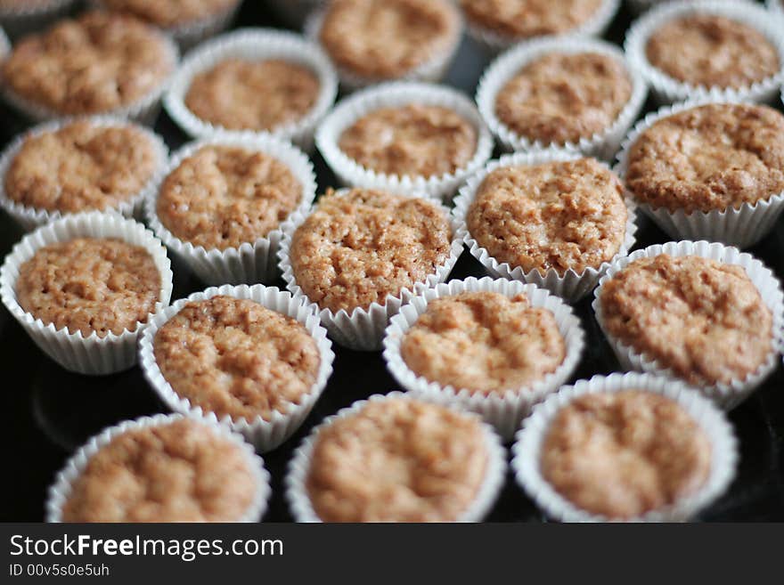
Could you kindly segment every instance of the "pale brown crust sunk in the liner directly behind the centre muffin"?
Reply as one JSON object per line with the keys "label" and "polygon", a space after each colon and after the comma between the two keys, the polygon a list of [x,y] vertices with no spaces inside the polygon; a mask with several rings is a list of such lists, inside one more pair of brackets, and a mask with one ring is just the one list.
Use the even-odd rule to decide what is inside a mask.
{"label": "pale brown crust sunk in the liner directly behind the centre muffin", "polygon": [[411,103],[359,118],[338,145],[348,158],[378,173],[440,176],[474,158],[477,128],[449,108]]}

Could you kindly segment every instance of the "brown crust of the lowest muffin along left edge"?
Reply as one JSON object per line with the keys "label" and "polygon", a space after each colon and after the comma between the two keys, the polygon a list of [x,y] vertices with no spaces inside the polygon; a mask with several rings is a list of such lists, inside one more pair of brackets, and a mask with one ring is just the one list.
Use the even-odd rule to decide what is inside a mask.
{"label": "brown crust of the lowest muffin along left edge", "polygon": [[113,239],[77,238],[39,248],[21,264],[15,284],[22,309],[55,329],[134,331],[160,297],[160,273],[141,247]]}

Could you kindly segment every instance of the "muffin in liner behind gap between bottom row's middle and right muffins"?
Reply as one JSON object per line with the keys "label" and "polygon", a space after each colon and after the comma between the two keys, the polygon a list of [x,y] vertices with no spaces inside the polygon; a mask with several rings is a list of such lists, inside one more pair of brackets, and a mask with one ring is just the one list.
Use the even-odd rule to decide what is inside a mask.
{"label": "muffin in liner behind gap between bottom row's middle and right muffins", "polygon": [[387,369],[412,395],[478,413],[510,441],[580,362],[571,307],[534,284],[489,277],[421,291],[389,321]]}

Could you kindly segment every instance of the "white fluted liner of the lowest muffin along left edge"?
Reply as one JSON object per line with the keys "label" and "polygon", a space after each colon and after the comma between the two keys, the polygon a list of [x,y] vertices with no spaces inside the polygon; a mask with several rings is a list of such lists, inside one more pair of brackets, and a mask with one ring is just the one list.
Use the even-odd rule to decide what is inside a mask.
{"label": "white fluted liner of the lowest muffin along left edge", "polygon": [[69,333],[66,327],[55,329],[53,323],[45,324],[26,313],[17,300],[16,280],[19,278],[20,266],[34,256],[39,248],[79,237],[115,238],[147,250],[160,273],[159,301],[148,315],[148,320],[168,305],[173,275],[166,248],[142,223],[116,213],[100,212],[67,215],[22,238],[11,253],[5,256],[0,269],[0,296],[5,307],[36,345],[66,370],[88,375],[127,370],[136,362],[136,339],[141,334],[143,323],[137,322],[133,331],[125,329],[119,335],[109,332],[106,337],[98,337],[93,332],[89,337],[84,337],[80,330]]}

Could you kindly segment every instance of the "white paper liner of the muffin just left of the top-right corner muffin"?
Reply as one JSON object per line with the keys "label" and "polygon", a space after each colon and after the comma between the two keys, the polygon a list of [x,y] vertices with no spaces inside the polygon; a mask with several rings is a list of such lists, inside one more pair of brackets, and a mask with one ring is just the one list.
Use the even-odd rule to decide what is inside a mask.
{"label": "white paper liner of the muffin just left of the top-right corner muffin", "polygon": [[[549,53],[600,53],[624,64],[632,83],[632,95],[612,125],[602,132],[580,138],[578,142],[542,142],[521,136],[504,124],[495,113],[495,102],[505,85],[528,63]],[[477,103],[482,118],[506,150],[544,150],[559,148],[579,150],[584,154],[611,159],[615,156],[624,134],[640,113],[648,85],[642,76],[626,61],[625,54],[605,41],[580,37],[544,37],[523,43],[503,53],[486,69],[479,81]]]}

